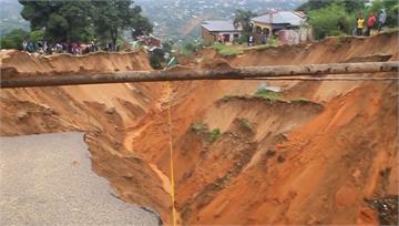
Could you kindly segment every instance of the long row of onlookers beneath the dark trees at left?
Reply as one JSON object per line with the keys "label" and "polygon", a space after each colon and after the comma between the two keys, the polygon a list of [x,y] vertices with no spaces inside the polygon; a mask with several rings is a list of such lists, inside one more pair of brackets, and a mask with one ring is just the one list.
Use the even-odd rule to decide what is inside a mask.
{"label": "long row of onlookers beneath the dark trees at left", "polygon": [[108,43],[104,47],[99,44],[98,42],[90,43],[78,43],[78,42],[58,42],[58,43],[49,43],[48,41],[27,41],[24,40],[22,43],[23,51],[40,54],[52,54],[52,53],[71,53],[71,54],[88,54],[90,52],[95,51],[119,51],[120,47],[116,44],[115,47],[112,43]]}

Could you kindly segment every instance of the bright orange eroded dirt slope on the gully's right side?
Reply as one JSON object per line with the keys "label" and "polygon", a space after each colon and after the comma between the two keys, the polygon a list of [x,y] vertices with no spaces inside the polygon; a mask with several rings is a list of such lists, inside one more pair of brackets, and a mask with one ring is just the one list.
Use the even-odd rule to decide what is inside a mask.
{"label": "bright orange eroded dirt slope on the gully's right side", "polygon": [[[227,59],[227,61],[233,65],[267,65],[376,59],[397,60],[397,40],[398,33],[382,34],[372,39],[344,39],[344,41],[341,39],[328,39],[320,43],[309,45],[248,51],[239,58]],[[206,50],[204,56],[202,56],[201,53],[196,54],[197,60],[194,60],[194,65],[195,62],[201,64],[204,59],[209,58],[209,55],[215,59],[219,58],[214,52]],[[382,76],[385,73],[377,75]],[[388,194],[397,194],[397,188],[393,186],[396,184],[395,175],[397,174],[398,164],[395,161],[397,157],[395,152],[397,145],[395,138],[397,135],[397,131],[395,130],[397,125],[397,103],[395,100],[397,99],[398,92],[396,83],[274,83],[287,89],[285,91],[287,99],[308,99],[321,103],[325,107],[325,111],[318,114],[318,116],[314,114],[307,115],[310,120],[303,122],[305,125],[301,125],[300,121],[294,117],[297,127],[288,126],[289,130],[284,130],[287,125],[283,124],[287,121],[287,116],[284,114],[284,109],[287,107],[279,110],[279,114],[277,115],[282,115],[282,117],[277,115],[263,117],[254,106],[223,106],[222,109],[225,110],[222,111],[219,109],[221,106],[215,104],[215,102],[219,102],[219,100],[228,99],[229,95],[241,96],[253,94],[260,83],[262,82],[219,81],[180,82],[173,84],[175,90],[172,107],[173,135],[175,141],[174,161],[176,165],[175,174],[178,179],[176,197],[177,209],[181,212],[183,220],[195,224],[306,224],[317,222],[325,224],[354,224],[358,220],[366,220],[368,217],[372,218],[372,216],[370,216],[370,209],[362,198],[370,196],[382,197],[385,195],[377,194],[376,186],[371,185],[379,183],[380,178],[378,175],[380,174],[378,172],[392,168],[390,171],[392,172],[392,176],[388,179],[390,183],[383,186],[390,187],[389,192],[387,192]],[[361,94],[355,95],[359,92],[367,94],[369,97],[364,97]],[[347,103],[349,100],[350,103]],[[370,103],[372,103],[372,107]],[[347,109],[354,104],[357,107]],[[256,106],[259,105],[256,104]],[[243,109],[246,109],[248,113],[243,113]],[[267,110],[268,107],[260,112],[265,113]],[[296,111],[301,112],[303,110],[296,109]],[[377,112],[383,114],[383,116],[374,115],[372,117],[364,119],[362,115],[369,114],[370,111],[374,111],[376,114]],[[308,111],[303,112],[305,112],[305,115],[308,113]],[[243,119],[249,119],[249,123],[258,124],[258,127],[253,131],[254,134],[246,134],[248,136],[246,140],[247,143],[239,136],[234,136],[235,140],[233,141],[226,140],[226,134],[234,134],[234,131],[238,130],[237,126],[233,126],[233,124],[237,124],[237,120]],[[276,137],[262,140],[269,127],[267,123],[263,123],[265,120],[272,119],[275,119],[276,124],[270,131],[277,133]],[[332,119],[336,120],[331,122]],[[383,121],[387,124],[369,127],[370,133],[383,134],[381,130],[387,126],[387,130],[389,129],[388,133],[390,134],[389,138],[370,135],[362,130],[362,127],[368,127],[371,124],[382,123],[381,119],[386,119]],[[320,133],[320,127],[313,124],[316,120],[325,123],[324,127],[326,127],[326,130],[328,129],[325,133]],[[339,122],[340,120],[342,120],[342,122]],[[158,168],[168,175],[167,137],[158,133],[156,140],[154,140],[153,135],[156,134],[156,131],[160,131],[160,129],[162,131],[167,130],[165,124],[166,112],[161,113],[158,120],[155,119],[155,121],[160,123],[147,126],[146,130],[141,133],[141,136],[136,138],[135,151],[142,153],[145,160],[155,162]],[[206,130],[202,135],[195,135],[198,132],[194,133],[192,130],[193,125],[197,123],[206,125]],[[348,123],[348,125],[342,127],[346,123]],[[308,124],[308,131],[311,129],[313,133],[305,133],[303,135],[304,137],[299,140],[296,140],[296,136],[291,135],[301,134],[303,127]],[[162,125],[165,126],[163,127]],[[209,133],[214,129],[221,130],[221,140],[209,144]],[[280,134],[278,134],[278,132]],[[348,134],[354,135],[349,136]],[[369,136],[376,140],[376,143],[383,143],[383,145],[386,145],[385,148],[377,147],[375,144],[364,144],[362,140],[367,140],[367,137],[370,138]],[[337,146],[337,144],[340,144],[339,138],[341,137],[346,138],[345,145]],[[238,143],[241,143],[242,146],[234,142],[236,140],[239,141]],[[153,141],[155,141],[157,145],[154,145],[154,143],[152,143]],[[311,143],[311,145],[308,143]],[[301,154],[300,161],[296,160],[299,158],[297,153],[285,147],[289,145],[293,146],[291,148],[298,148],[296,152]],[[252,156],[253,160],[243,160],[247,165],[239,166],[241,172],[232,175],[228,170],[234,168],[232,166],[234,161],[227,161],[228,164],[223,162],[223,158],[226,157],[223,154],[224,148],[227,148],[227,152],[232,153],[237,148],[238,153],[245,152],[246,155]],[[340,152],[338,152],[337,148]],[[371,154],[366,158],[362,156],[365,153],[359,151],[355,152],[355,150],[361,148],[371,150],[369,151]],[[378,151],[377,148],[383,151]],[[246,150],[252,151],[248,152]],[[215,156],[211,154],[216,151],[218,154],[214,154]],[[269,152],[270,154],[267,154],[267,151],[272,151]],[[275,154],[272,154],[274,152]],[[381,154],[383,152],[386,154]],[[204,153],[213,157],[207,157]],[[338,160],[329,160],[325,155],[321,155],[321,153],[326,153],[326,156],[337,153],[335,157]],[[268,155],[273,156],[268,157]],[[342,166],[342,161],[340,160],[342,155],[348,155],[348,163],[345,166]],[[380,155],[389,157],[382,161],[379,160]],[[231,157],[239,163],[239,156],[232,154]],[[295,160],[294,165],[291,158]],[[377,165],[377,162],[379,162],[377,158],[383,163],[380,162]],[[310,160],[311,164],[307,165]],[[351,162],[360,160],[367,163],[361,163],[361,165],[350,164]],[[362,164],[368,166],[365,167]],[[318,168],[320,168],[320,171]],[[367,171],[365,168],[367,168]],[[330,173],[334,171],[338,171],[337,175]],[[315,172],[319,172],[319,174],[315,174]],[[351,184],[351,177],[347,175],[352,174],[356,177],[354,179],[359,178],[362,183]],[[290,178],[286,179],[288,175],[290,175]],[[304,179],[301,179],[301,176]],[[225,181],[226,177],[228,177],[228,183]],[[277,183],[282,185],[277,186]],[[349,184],[347,185],[349,187],[356,187],[356,189],[349,191],[355,191],[357,196],[354,201],[349,202],[350,205],[345,204],[341,206],[339,199],[345,201],[352,197],[352,194],[346,193],[347,187],[344,186],[346,183]],[[365,187],[369,187],[368,193],[364,192]],[[279,192],[270,192],[275,189]],[[309,196],[310,193],[317,193],[318,195]],[[311,210],[305,212],[304,209],[307,209],[307,206],[310,204],[313,204]],[[278,207],[276,207],[276,205]],[[237,209],[238,206],[239,209]],[[294,206],[295,208],[289,210],[289,206]],[[327,207],[324,208],[324,206]]]}

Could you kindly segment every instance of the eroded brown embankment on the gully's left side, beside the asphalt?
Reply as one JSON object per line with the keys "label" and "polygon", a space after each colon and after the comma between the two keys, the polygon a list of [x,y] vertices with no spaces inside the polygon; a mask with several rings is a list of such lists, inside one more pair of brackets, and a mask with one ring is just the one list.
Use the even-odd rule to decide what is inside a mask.
{"label": "eroded brown embankment on the gully's left side, beside the asphalt", "polygon": [[[143,53],[37,58],[1,52],[2,76],[149,70]],[[12,70],[10,70],[12,69]],[[54,74],[53,74],[54,73]],[[110,84],[1,90],[1,135],[83,131],[93,170],[129,202],[152,207],[168,220],[168,194],[157,174],[123,145],[125,131],[157,111],[163,84]]]}

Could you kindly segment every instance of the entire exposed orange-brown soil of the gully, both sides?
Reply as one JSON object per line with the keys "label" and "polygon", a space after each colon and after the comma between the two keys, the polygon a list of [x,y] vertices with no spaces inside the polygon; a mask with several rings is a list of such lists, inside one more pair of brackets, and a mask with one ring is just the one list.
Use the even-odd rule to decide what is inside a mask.
{"label": "entire exposed orange-brown soil of the gully, both sides", "polygon": [[[217,69],[387,61],[399,59],[398,49],[398,33],[385,33],[248,50],[233,59],[206,49],[185,63]],[[39,59],[8,51],[1,59],[6,76],[150,70],[143,53]],[[171,223],[170,105],[180,223],[385,223],[365,198],[383,203],[398,195],[397,82],[267,83],[283,90],[283,100],[255,96],[264,85],[192,81],[2,90],[0,134],[85,131],[94,171],[123,199],[152,207]],[[395,205],[387,206],[395,217]]]}

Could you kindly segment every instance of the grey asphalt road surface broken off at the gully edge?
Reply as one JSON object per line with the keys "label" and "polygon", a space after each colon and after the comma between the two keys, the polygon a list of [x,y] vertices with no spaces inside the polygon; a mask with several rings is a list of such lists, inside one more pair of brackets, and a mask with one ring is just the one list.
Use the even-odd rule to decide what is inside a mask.
{"label": "grey asphalt road surface broken off at the gully edge", "polygon": [[82,133],[0,137],[0,225],[158,225],[113,194]]}

